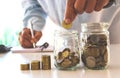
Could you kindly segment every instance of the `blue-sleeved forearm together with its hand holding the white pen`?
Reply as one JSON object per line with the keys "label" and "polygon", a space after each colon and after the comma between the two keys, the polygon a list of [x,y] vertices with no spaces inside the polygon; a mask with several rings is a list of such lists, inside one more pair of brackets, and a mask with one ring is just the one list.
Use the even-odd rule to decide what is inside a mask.
{"label": "blue-sleeved forearm together with its hand holding the white pen", "polygon": [[[42,36],[41,30],[45,25],[47,15],[37,0],[23,0],[22,7],[25,11],[23,19],[25,28],[19,33],[19,43],[24,48],[33,48],[33,43],[37,43]],[[31,35],[29,21],[33,24],[34,38]]]}

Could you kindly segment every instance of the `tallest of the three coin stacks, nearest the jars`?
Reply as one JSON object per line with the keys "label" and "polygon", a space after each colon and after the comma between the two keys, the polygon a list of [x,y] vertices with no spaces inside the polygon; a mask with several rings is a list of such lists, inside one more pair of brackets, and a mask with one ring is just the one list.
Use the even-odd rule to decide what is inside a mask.
{"label": "tallest of the three coin stacks, nearest the jars", "polygon": [[51,57],[50,57],[50,55],[42,55],[42,69],[43,70],[51,69]]}

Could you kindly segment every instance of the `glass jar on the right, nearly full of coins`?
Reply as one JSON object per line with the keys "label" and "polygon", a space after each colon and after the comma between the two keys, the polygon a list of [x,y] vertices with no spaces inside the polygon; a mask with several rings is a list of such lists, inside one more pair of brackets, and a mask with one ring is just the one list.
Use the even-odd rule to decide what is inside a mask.
{"label": "glass jar on the right, nearly full of coins", "polygon": [[81,59],[88,69],[105,69],[109,63],[109,24],[81,24]]}

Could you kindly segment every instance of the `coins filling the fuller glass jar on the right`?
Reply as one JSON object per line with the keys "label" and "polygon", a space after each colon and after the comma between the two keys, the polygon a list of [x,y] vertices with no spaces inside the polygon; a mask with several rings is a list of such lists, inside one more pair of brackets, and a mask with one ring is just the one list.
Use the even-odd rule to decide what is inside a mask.
{"label": "coins filling the fuller glass jar on the right", "polygon": [[108,41],[105,34],[92,34],[83,38],[82,61],[87,68],[104,69],[108,64]]}

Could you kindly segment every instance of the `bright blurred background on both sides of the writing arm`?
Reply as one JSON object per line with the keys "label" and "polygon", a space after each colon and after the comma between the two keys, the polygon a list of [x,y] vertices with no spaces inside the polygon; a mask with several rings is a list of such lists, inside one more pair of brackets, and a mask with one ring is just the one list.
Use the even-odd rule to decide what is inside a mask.
{"label": "bright blurred background on both sides of the writing arm", "polygon": [[[0,44],[6,46],[19,46],[18,34],[22,30],[23,9],[21,0],[2,0],[0,2]],[[46,26],[43,30],[43,37],[38,42],[53,44],[54,30],[59,26],[47,18]]]}

